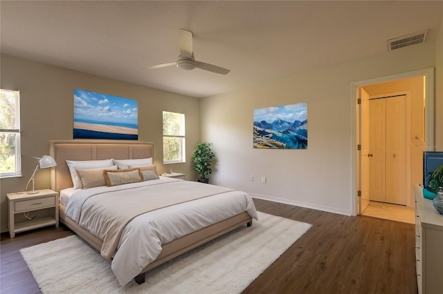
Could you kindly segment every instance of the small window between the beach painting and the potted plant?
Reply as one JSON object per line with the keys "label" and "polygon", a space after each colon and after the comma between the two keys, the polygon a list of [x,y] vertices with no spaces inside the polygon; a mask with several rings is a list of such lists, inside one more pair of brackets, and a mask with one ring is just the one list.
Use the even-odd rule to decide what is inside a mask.
{"label": "small window between the beach painting and the potted plant", "polygon": [[185,115],[163,111],[163,164],[186,162]]}

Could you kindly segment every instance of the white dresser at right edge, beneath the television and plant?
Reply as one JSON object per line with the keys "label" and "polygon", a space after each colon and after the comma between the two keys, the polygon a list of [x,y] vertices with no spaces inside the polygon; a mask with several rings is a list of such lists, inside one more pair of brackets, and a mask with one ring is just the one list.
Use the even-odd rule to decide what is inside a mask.
{"label": "white dresser at right edge, beneath the television and plant", "polygon": [[418,293],[443,293],[443,215],[432,200],[423,197],[422,186],[414,186],[415,256]]}

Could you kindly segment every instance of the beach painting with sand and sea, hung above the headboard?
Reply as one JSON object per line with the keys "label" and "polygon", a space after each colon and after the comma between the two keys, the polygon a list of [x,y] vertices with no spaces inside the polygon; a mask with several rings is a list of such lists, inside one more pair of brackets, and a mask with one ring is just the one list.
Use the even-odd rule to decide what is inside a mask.
{"label": "beach painting with sand and sea, hung above the headboard", "polygon": [[138,139],[138,101],[74,89],[74,139]]}

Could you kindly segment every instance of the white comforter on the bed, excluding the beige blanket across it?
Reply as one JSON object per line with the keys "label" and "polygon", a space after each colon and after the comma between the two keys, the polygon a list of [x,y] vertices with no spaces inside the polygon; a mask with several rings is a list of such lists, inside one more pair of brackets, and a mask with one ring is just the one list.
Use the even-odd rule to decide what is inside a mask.
{"label": "white comforter on the bed, excluding the beige blanket across it", "polygon": [[[131,190],[131,188],[139,186],[177,181],[182,180],[161,177],[161,179],[141,183],[80,190],[69,198],[66,205],[66,215],[88,231],[98,231],[94,228],[96,224],[91,225],[88,224],[89,222],[82,224],[81,221],[81,208],[91,195],[105,191],[122,190],[123,188]],[[165,197],[167,196],[165,195]],[[111,198],[109,200],[111,201]],[[149,193],[146,195],[146,201],[150,201]],[[123,229],[118,242],[118,251],[116,251],[112,260],[112,271],[114,271],[118,282],[124,286],[159,256],[162,244],[244,211],[257,219],[252,198],[244,192],[231,190],[139,215]],[[91,227],[88,228],[87,226]],[[97,237],[100,238],[100,236]]]}

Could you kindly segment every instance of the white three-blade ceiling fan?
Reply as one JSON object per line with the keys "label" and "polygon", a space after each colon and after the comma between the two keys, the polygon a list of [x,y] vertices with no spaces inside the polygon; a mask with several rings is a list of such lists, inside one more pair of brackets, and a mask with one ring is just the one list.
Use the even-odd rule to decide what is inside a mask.
{"label": "white three-blade ceiling fan", "polygon": [[221,68],[219,66],[214,66],[213,64],[204,63],[197,61],[194,58],[194,52],[192,50],[192,32],[188,30],[179,30],[179,46],[180,55],[177,61],[170,63],[162,63],[156,66],[148,66],[147,69],[154,68],[165,68],[166,66],[177,66],[181,70],[193,70],[194,68],[200,68],[202,70],[208,70],[210,72],[215,72],[221,75],[226,75],[230,70],[226,68]]}

